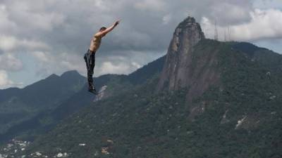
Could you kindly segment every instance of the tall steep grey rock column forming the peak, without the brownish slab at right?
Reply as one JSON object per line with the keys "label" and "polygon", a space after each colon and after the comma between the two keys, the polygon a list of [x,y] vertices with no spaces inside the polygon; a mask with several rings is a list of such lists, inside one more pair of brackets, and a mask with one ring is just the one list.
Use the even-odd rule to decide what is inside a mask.
{"label": "tall steep grey rock column forming the peak, without the brownish slab at right", "polygon": [[[180,22],[173,34],[173,39],[168,48],[164,70],[159,82],[159,90],[168,84],[169,90],[176,90],[187,85],[187,74],[192,62],[191,52],[204,33],[194,18],[188,17]],[[166,83],[168,82],[168,83]]]}

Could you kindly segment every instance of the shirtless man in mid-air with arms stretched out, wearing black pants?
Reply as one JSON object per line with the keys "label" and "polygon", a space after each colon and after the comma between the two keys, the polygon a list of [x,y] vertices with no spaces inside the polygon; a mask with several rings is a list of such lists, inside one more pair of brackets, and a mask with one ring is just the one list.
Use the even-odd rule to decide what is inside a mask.
{"label": "shirtless man in mid-air with arms stretched out, wearing black pants", "polygon": [[94,36],[92,37],[90,48],[88,49],[87,53],[85,53],[84,55],[84,60],[86,62],[86,67],[87,67],[87,80],[89,85],[88,91],[90,91],[91,93],[97,94],[97,91],[94,88],[93,78],[92,78],[93,70],[95,66],[95,53],[97,52],[101,44],[102,37],[106,36],[107,33],[111,32],[111,30],[113,30],[118,24],[119,24],[119,20],[116,21],[114,25],[112,25],[109,28],[101,27],[101,29],[99,29],[99,32],[94,34]]}

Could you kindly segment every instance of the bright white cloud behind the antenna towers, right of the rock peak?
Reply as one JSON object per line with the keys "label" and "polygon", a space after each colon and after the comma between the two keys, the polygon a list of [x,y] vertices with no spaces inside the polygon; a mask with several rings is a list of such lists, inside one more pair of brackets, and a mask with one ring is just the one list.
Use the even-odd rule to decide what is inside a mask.
{"label": "bright white cloud behind the antenna towers, right of the rock peak", "polygon": [[[232,40],[257,41],[282,38],[282,11],[276,9],[255,9],[255,11],[250,12],[250,17],[250,22],[230,27]],[[214,22],[204,17],[201,24],[206,36],[213,38]],[[228,27],[218,26],[218,30],[219,38],[223,40],[224,32],[228,32]]]}

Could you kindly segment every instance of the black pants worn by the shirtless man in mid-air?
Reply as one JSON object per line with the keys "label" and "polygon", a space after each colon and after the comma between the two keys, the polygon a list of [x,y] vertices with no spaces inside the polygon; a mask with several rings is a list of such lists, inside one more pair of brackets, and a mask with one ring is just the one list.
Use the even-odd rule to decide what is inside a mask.
{"label": "black pants worn by the shirtless man in mid-air", "polygon": [[95,52],[90,51],[88,49],[87,53],[85,53],[84,55],[84,60],[86,62],[86,67],[87,67],[87,80],[88,80],[89,88],[94,88],[93,73],[95,67]]}

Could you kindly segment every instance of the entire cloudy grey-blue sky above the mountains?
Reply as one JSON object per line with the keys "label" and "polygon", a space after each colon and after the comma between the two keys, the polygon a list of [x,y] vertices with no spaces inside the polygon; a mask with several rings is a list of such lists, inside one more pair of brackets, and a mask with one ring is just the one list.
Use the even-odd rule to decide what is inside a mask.
{"label": "entire cloudy grey-blue sky above the mountains", "polygon": [[282,53],[281,0],[3,0],[0,2],[0,88],[23,87],[78,70],[92,34],[121,19],[97,53],[94,75],[128,74],[166,53],[188,15],[207,38],[231,28],[231,40]]}

